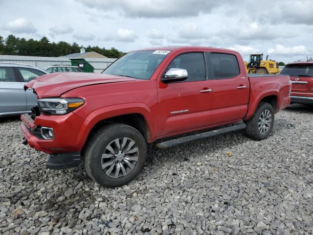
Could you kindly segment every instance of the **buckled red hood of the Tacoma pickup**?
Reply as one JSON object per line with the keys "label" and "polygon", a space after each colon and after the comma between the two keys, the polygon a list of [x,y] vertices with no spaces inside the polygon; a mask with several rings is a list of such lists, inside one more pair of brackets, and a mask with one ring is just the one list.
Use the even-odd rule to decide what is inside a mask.
{"label": "buckled red hood of the Tacoma pickup", "polygon": [[33,89],[39,98],[59,97],[61,94],[79,87],[134,80],[138,79],[102,73],[55,72],[26,83],[24,88]]}

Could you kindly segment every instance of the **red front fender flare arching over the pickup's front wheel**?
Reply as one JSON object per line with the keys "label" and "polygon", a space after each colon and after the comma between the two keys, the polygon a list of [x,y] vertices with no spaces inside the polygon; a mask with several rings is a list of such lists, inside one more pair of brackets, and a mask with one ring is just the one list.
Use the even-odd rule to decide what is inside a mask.
{"label": "red front fender flare arching over the pickup's front wheel", "polygon": [[142,115],[148,126],[149,140],[155,140],[154,133],[156,133],[156,124],[153,121],[152,112],[149,107],[143,103],[126,103],[116,104],[103,107],[91,112],[85,119],[79,134],[77,136],[76,145],[83,147],[90,131],[100,121],[126,114],[140,114]]}

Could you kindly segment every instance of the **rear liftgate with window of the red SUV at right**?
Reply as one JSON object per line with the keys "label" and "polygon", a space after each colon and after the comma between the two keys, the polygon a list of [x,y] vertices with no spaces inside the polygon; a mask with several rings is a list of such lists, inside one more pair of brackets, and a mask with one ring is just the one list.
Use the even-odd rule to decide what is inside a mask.
{"label": "rear liftgate with window of the red SUV at right", "polygon": [[286,65],[280,74],[290,76],[291,95],[313,97],[313,63]]}

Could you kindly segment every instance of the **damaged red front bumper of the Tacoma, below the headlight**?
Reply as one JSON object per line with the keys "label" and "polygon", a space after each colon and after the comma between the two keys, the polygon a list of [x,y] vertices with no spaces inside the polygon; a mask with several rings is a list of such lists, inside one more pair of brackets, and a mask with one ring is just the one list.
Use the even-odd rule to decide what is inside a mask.
{"label": "damaged red front bumper of the Tacoma, below the headlight", "polygon": [[[78,146],[76,141],[82,125],[81,118],[70,113],[64,116],[45,116],[44,118],[38,116],[36,119],[24,114],[21,119],[23,143],[28,143],[31,148],[50,154],[46,164],[49,169],[65,169],[80,164],[82,146]],[[44,138],[42,127],[45,126],[53,128],[53,139]]]}

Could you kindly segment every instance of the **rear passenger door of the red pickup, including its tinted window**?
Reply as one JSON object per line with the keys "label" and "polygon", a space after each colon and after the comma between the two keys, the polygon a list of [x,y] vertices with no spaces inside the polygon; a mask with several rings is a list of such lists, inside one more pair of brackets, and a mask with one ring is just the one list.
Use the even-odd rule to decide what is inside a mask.
{"label": "rear passenger door of the red pickup, including its tinted window", "polygon": [[207,55],[213,79],[212,125],[244,118],[248,109],[249,84],[236,54],[208,52]]}

